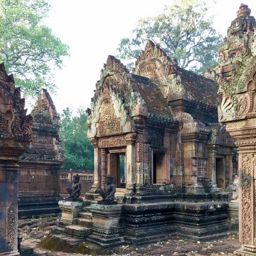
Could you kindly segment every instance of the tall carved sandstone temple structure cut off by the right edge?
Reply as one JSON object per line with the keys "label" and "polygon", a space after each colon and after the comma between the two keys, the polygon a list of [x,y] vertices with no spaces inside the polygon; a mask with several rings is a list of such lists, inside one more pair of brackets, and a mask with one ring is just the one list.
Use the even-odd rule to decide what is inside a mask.
{"label": "tall carved sandstone temple structure cut off by the right edge", "polygon": [[219,121],[235,138],[240,178],[238,255],[256,255],[256,37],[255,18],[241,4],[219,49],[219,66],[208,74],[222,95]]}

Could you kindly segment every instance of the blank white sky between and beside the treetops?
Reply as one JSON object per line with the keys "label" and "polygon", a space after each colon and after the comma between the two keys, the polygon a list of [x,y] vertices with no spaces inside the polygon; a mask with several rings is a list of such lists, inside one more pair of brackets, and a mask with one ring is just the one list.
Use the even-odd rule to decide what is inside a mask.
{"label": "blank white sky between and beside the treetops", "polygon": [[[51,95],[57,112],[90,107],[95,83],[108,55],[122,37],[129,36],[139,18],[153,16],[172,0],[50,0],[47,25],[70,47],[62,70],[54,71],[57,95]],[[214,28],[226,35],[242,0],[206,0],[215,15]],[[256,18],[256,1],[246,0]]]}

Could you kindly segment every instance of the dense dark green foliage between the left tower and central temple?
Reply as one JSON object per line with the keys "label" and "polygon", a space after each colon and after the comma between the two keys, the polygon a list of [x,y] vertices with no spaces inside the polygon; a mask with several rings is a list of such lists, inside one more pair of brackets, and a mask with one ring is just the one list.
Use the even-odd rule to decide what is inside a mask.
{"label": "dense dark green foliage between the left tower and central temple", "polygon": [[72,117],[69,107],[63,110],[59,137],[64,149],[63,168],[93,170],[93,146],[87,137],[86,110],[80,108],[78,117]]}

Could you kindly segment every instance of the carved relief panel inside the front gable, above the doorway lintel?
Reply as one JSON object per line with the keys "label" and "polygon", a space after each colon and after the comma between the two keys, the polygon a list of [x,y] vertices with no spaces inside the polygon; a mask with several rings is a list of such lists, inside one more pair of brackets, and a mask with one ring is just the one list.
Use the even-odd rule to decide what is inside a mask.
{"label": "carved relief panel inside the front gable, above the doorway lintel", "polygon": [[118,134],[122,132],[120,120],[115,115],[114,107],[109,99],[103,100],[100,106],[100,120],[98,122],[98,136]]}

